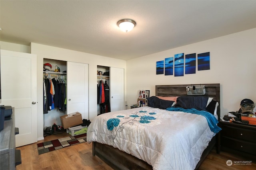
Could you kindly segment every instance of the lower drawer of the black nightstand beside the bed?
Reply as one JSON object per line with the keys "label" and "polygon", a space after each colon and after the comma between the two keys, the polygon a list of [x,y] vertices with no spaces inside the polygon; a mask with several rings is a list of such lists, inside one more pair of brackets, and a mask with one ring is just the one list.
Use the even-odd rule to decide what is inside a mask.
{"label": "lower drawer of the black nightstand beside the bed", "polygon": [[228,137],[221,137],[221,146],[256,155],[256,144]]}

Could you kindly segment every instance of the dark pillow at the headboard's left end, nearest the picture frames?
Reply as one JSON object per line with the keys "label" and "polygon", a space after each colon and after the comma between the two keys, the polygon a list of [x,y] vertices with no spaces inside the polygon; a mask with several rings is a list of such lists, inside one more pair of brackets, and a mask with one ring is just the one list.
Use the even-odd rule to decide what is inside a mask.
{"label": "dark pillow at the headboard's left end, nearest the picture frames", "polygon": [[154,108],[159,108],[159,109],[167,109],[168,107],[172,107],[172,104],[174,101],[170,100],[162,100],[156,96],[151,96],[148,98],[148,106],[149,107],[154,107]]}

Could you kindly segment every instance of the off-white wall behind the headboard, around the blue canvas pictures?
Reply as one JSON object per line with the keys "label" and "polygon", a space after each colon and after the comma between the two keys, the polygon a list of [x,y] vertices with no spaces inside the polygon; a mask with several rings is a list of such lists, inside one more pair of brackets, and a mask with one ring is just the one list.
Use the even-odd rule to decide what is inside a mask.
{"label": "off-white wall behind the headboard, around the blue canvas pictures", "polygon": [[[175,41],[175,40],[174,40]],[[156,61],[175,54],[210,52],[210,70],[174,77],[156,75]],[[136,104],[138,90],[150,90],[155,85],[220,83],[220,111],[237,111],[240,102],[249,98],[256,103],[256,28],[194,43],[127,61],[127,104]]]}

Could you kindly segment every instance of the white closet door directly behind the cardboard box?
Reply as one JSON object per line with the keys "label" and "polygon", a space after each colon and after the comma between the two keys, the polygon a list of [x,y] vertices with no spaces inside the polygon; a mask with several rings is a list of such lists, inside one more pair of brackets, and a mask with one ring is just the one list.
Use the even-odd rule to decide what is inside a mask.
{"label": "white closet door directly behind the cardboard box", "polygon": [[67,113],[88,119],[88,64],[67,62]]}

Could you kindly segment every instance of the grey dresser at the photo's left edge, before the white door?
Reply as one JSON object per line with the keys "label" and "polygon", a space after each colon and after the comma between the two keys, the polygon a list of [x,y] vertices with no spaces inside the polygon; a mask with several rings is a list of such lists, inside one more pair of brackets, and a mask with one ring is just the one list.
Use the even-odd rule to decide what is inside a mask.
{"label": "grey dresser at the photo's left edge, before the white door", "polygon": [[4,121],[4,129],[0,131],[0,170],[15,170],[21,164],[20,150],[15,147],[18,128],[15,128],[14,109],[12,110],[12,118]]}

